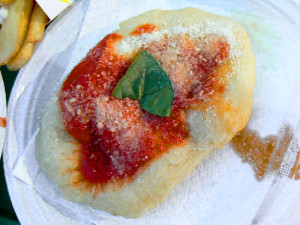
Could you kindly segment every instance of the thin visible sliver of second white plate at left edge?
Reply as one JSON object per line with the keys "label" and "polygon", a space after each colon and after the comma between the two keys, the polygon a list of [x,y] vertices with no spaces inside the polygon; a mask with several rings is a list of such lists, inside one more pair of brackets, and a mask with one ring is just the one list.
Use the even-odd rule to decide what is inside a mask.
{"label": "thin visible sliver of second white plate at left edge", "polygon": [[[2,74],[0,72],[0,120],[6,119],[6,94]],[[4,139],[5,139],[5,127],[0,126],[0,158],[3,150]]]}

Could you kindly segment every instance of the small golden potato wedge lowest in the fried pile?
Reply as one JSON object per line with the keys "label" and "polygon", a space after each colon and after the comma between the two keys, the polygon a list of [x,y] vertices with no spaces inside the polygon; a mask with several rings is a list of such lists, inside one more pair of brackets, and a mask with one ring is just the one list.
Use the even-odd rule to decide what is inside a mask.
{"label": "small golden potato wedge lowest in the fried pile", "polygon": [[7,68],[10,71],[19,70],[23,65],[25,65],[31,58],[33,53],[34,43],[25,42],[21,47],[20,51],[15,57],[13,57],[7,64]]}

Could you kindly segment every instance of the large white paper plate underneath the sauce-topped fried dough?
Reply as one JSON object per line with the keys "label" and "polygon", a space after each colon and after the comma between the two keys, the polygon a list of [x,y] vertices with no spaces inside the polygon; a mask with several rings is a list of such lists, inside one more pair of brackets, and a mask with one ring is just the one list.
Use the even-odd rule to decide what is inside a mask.
{"label": "large white paper plate underneath the sauce-topped fried dough", "polygon": [[[103,10],[102,13],[89,14],[83,21],[85,9],[96,7],[93,5],[95,2]],[[68,211],[64,205],[55,204],[57,200],[55,195],[57,190],[55,189],[53,192],[49,192],[48,196],[41,197],[32,187],[36,177],[27,177],[32,171],[26,172],[26,170],[34,169],[34,167],[26,166],[26,160],[20,158],[32,144],[30,141],[38,129],[40,113],[46,100],[55,92],[63,75],[78,63],[89,48],[101,40],[104,35],[117,29],[118,23],[124,19],[153,8],[176,9],[188,6],[231,16],[244,24],[249,31],[253,29],[253,26],[247,21],[262,20],[259,29],[256,32],[253,30],[250,32],[254,51],[259,51],[261,47],[266,49],[266,52],[257,58],[259,59],[257,61],[258,72],[264,71],[266,74],[257,76],[254,112],[262,110],[259,106],[265,103],[268,107],[274,108],[274,115],[264,118],[263,123],[255,123],[252,126],[262,128],[263,134],[272,132],[276,134],[278,131],[276,128],[279,128],[282,122],[299,122],[299,104],[296,104],[296,100],[291,101],[290,99],[291,96],[294,98],[298,96],[299,98],[296,98],[298,102],[300,99],[298,93],[300,80],[299,75],[295,72],[297,69],[300,71],[298,62],[300,35],[297,33],[300,30],[300,8],[296,1],[78,1],[50,25],[43,42],[36,48],[32,59],[20,71],[11,93],[4,166],[9,193],[22,224],[244,225],[253,221],[259,210],[258,206],[263,202],[272,183],[275,182],[274,176],[257,182],[250,166],[242,163],[229,146],[224,147],[222,151],[213,153],[195,170],[191,177],[171,193],[166,202],[138,220],[113,217],[100,211],[95,213],[92,210],[83,210],[82,215],[74,214],[72,209]],[[264,18],[268,18],[268,20],[264,22]],[[273,20],[274,24],[278,21],[286,25],[276,26],[273,24],[271,31],[276,31],[278,37],[274,37],[273,33],[268,30],[271,26],[267,22],[269,20]],[[92,25],[94,28],[91,33]],[[278,30],[279,28],[282,30]],[[269,35],[260,35],[264,32],[269,32]],[[77,38],[78,41],[74,43]],[[259,46],[260,43],[263,43],[263,46]],[[283,46],[283,49],[278,46],[268,46],[268,43],[277,43],[279,47]],[[293,46],[287,45],[289,43]],[[277,49],[278,52],[274,49]],[[299,57],[293,58],[292,56]],[[69,59],[70,64],[68,65]],[[286,76],[286,80],[282,82],[282,79],[275,79],[273,74],[267,70],[269,67],[282,69],[282,76]],[[51,73],[45,72],[50,68]],[[268,80],[272,80],[273,85],[262,89],[261,85],[264,82],[267,83]],[[265,100],[268,101],[264,102]],[[265,126],[266,123],[270,126]],[[296,124],[292,125],[294,129],[297,129]],[[212,159],[215,166],[211,165]],[[24,163],[22,164],[22,162]],[[20,167],[16,167],[16,165]],[[25,167],[22,167],[24,165]],[[201,170],[206,173],[199,175]],[[232,174],[235,175],[232,176]],[[202,185],[204,181],[206,182],[205,186]],[[45,180],[45,182],[48,181]],[[283,187],[286,189],[284,193],[294,192],[295,196],[300,196],[299,182],[293,182]],[[201,193],[199,194],[200,188]],[[280,194],[281,196],[278,196],[276,200],[276,207],[272,207],[264,214],[260,224],[274,224],[274,221],[278,225],[300,223],[300,215],[297,213],[299,206],[296,208],[297,203],[291,202],[292,199],[299,202],[299,197]],[[51,199],[52,196],[53,199]],[[182,199],[185,201],[181,202]],[[80,204],[73,205],[78,209],[85,207]],[[88,212],[95,213],[93,218]]]}

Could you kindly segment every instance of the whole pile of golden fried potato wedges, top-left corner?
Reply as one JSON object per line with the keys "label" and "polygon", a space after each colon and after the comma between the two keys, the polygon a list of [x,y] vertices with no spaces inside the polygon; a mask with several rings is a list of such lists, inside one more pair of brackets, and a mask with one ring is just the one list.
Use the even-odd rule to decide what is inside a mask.
{"label": "whole pile of golden fried potato wedges, top-left corner", "polygon": [[34,43],[42,40],[48,17],[34,0],[0,0],[1,3],[8,4],[8,15],[0,34],[0,65],[18,70],[30,59]]}

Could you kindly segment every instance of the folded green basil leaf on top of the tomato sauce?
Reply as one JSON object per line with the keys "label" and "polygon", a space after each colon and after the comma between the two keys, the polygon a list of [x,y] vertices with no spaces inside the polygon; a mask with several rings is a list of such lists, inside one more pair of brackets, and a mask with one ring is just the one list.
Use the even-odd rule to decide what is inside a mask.
{"label": "folded green basil leaf on top of the tomato sauce", "polygon": [[174,91],[159,63],[147,51],[141,51],[117,84],[113,96],[140,100],[141,108],[158,116],[170,116]]}

